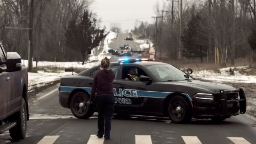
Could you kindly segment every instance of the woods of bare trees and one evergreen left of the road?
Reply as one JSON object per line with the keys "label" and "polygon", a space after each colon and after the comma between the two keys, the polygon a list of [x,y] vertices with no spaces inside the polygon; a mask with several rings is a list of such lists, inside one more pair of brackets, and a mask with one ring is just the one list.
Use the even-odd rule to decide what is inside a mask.
{"label": "woods of bare trees and one evergreen left of the road", "polygon": [[0,39],[6,51],[18,52],[22,59],[28,59],[33,13],[30,52],[34,60],[84,61],[87,51],[98,46],[105,31],[99,27],[96,14],[89,10],[91,4],[92,0],[2,0]]}

